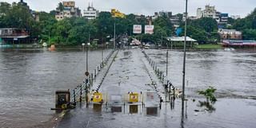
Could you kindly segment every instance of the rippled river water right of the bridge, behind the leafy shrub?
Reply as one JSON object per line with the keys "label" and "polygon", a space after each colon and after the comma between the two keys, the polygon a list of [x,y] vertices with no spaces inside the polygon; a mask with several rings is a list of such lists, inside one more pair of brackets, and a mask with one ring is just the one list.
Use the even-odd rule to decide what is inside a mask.
{"label": "rippled river water right of the bridge, behind the leafy shrub", "polygon": [[[161,71],[166,72],[166,50],[146,50]],[[169,51],[168,79],[182,88],[183,52]],[[166,75],[166,73],[165,73]],[[213,86],[220,98],[256,98],[256,50],[194,51],[186,57],[186,93]]]}

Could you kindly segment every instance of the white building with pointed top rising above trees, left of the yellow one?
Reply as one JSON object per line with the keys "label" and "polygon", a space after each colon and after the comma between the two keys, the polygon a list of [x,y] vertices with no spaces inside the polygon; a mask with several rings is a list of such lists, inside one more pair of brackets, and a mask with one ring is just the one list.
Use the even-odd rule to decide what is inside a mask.
{"label": "white building with pointed top rising above trees, left of the yellow one", "polygon": [[89,3],[89,6],[87,7],[87,10],[84,10],[83,11],[83,17],[85,17],[86,19],[95,19],[96,17],[98,17],[98,10],[96,10],[93,6],[93,3],[91,4],[90,6],[90,3]]}

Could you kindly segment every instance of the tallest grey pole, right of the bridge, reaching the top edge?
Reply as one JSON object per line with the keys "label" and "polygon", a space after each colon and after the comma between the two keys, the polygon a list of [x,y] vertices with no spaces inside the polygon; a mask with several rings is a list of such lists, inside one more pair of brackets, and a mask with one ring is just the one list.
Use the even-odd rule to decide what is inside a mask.
{"label": "tallest grey pole, right of the bridge, reaching the top edge", "polygon": [[182,79],[182,104],[185,100],[185,73],[186,73],[186,24],[187,24],[187,0],[185,13],[185,41],[184,41],[184,56],[183,56],[183,79]]}

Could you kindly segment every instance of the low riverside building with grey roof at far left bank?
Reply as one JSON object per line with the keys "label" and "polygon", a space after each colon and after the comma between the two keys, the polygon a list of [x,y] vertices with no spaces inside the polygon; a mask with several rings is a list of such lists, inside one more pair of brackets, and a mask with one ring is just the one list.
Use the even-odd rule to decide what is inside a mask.
{"label": "low riverside building with grey roof at far left bank", "polygon": [[1,28],[0,38],[3,43],[27,43],[29,42],[29,33],[24,29],[18,28]]}

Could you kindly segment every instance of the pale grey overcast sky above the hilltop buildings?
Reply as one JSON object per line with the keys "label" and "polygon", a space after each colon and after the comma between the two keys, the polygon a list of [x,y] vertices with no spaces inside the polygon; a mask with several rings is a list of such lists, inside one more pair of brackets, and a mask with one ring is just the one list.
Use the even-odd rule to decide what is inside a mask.
{"label": "pale grey overcast sky above the hilltop buildings", "polygon": [[[1,0],[1,2],[18,2],[19,0]],[[125,14],[153,15],[157,11],[172,11],[173,14],[185,12],[185,0],[74,0],[81,10],[93,2],[97,10],[110,11],[115,8]],[[24,0],[32,10],[55,10],[62,0]],[[198,7],[205,8],[206,4],[215,6],[216,10],[230,15],[245,17],[256,7],[256,0],[188,0],[189,16],[195,16]]]}

